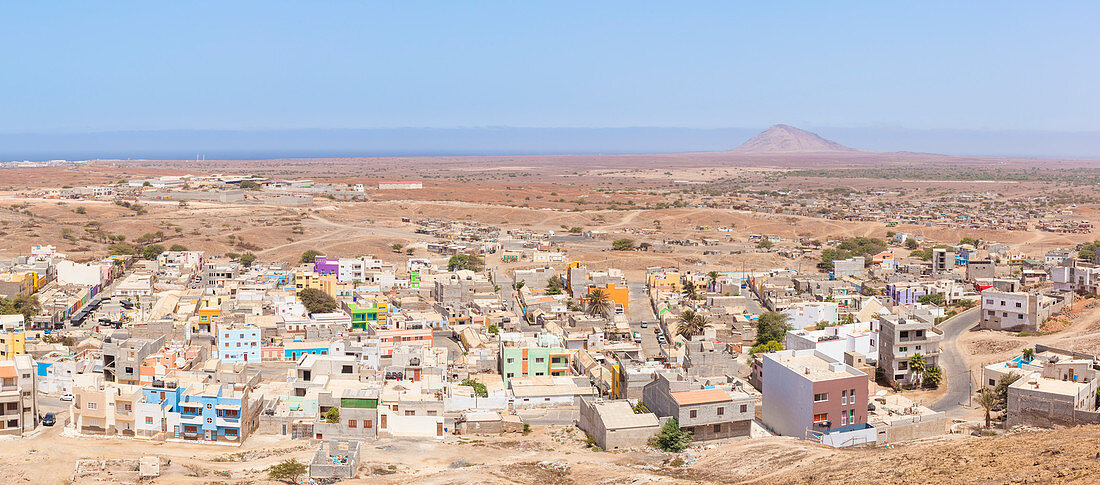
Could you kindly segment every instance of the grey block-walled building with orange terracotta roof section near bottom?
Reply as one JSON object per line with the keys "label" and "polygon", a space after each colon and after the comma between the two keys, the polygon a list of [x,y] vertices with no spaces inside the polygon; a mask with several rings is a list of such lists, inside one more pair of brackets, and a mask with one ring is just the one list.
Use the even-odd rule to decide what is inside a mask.
{"label": "grey block-walled building with orange terracotta roof section near bottom", "polygon": [[756,399],[746,393],[663,375],[646,385],[641,400],[654,415],[674,418],[696,441],[747,437],[756,417]]}

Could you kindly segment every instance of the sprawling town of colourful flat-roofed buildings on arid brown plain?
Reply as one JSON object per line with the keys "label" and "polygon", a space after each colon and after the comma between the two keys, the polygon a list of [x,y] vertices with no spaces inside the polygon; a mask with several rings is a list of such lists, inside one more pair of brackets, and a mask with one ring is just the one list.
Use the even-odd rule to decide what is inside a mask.
{"label": "sprawling town of colourful flat-roofed buildings on arid brown plain", "polygon": [[[14,200],[309,207],[308,190],[309,180],[168,177]],[[730,253],[810,263],[623,269],[571,253],[713,251],[732,239],[411,216],[397,225],[410,240],[387,252],[293,261],[166,246],[165,234],[106,234],[111,254],[81,261],[48,241],[26,247],[0,262],[0,368],[10,370],[0,433],[289,440],[314,455],[273,467],[346,480],[364,476],[370,443],[548,429],[572,430],[581,448],[684,463],[707,443],[768,437],[873,448],[1100,423],[1094,351],[1045,337],[1100,317],[1100,242],[1025,254],[893,230],[794,245],[748,234]],[[966,353],[958,341],[974,332],[1035,342]],[[153,455],[123,462],[111,464],[119,476],[172,467]],[[72,476],[91,476],[89,466],[99,465]]]}

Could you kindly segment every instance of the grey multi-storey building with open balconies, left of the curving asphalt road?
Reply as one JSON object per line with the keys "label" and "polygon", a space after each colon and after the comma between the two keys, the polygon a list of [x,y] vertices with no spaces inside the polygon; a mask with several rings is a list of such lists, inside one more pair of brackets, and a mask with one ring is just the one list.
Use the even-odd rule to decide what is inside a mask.
{"label": "grey multi-storey building with open balconies, left of the curving asphalt road", "polygon": [[944,332],[933,323],[893,315],[878,317],[879,368],[892,385],[913,386],[919,375],[909,361],[924,357],[925,368],[939,365],[939,342]]}

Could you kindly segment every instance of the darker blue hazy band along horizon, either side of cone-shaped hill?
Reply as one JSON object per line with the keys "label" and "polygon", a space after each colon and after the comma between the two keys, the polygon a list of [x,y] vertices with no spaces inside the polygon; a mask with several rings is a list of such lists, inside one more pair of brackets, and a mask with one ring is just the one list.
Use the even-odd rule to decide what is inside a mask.
{"label": "darker blue hazy band along horizon, either side of cone-shaped hill", "polygon": [[[591,155],[730,150],[759,129],[392,128],[0,133],[0,161]],[[1100,158],[1100,132],[798,126],[877,152]]]}

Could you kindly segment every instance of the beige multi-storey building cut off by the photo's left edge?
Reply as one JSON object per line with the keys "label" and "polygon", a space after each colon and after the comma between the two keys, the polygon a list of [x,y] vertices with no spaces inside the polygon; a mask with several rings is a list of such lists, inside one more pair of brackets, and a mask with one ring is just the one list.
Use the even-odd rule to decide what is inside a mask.
{"label": "beige multi-storey building cut off by the photo's left edge", "polygon": [[0,434],[22,436],[38,426],[38,365],[21,354],[0,361]]}

